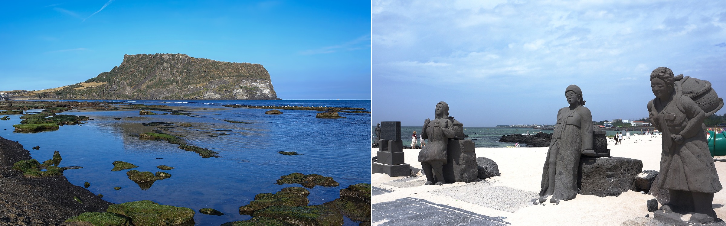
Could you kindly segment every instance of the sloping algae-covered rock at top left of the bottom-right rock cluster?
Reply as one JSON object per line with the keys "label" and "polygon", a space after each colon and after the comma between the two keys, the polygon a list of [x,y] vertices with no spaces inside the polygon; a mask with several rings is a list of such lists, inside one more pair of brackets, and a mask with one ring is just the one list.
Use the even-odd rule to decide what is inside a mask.
{"label": "sloping algae-covered rock at top left of the bottom-right rock cluster", "polygon": [[240,214],[250,215],[267,206],[307,206],[310,192],[305,188],[282,188],[277,193],[259,193],[250,204],[240,206]]}

